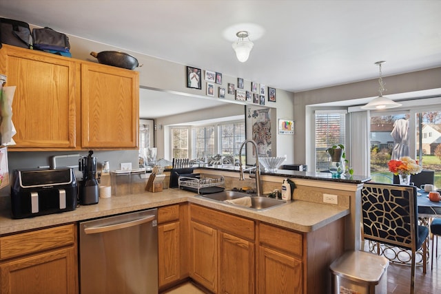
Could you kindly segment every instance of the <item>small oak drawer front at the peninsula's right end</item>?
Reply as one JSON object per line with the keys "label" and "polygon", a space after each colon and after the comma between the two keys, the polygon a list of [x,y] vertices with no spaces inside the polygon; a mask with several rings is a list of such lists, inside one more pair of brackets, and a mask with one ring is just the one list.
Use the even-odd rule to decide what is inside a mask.
{"label": "small oak drawer front at the peninsula's right end", "polygon": [[289,253],[302,256],[302,235],[269,224],[259,224],[260,244],[268,244],[271,248],[277,248]]}

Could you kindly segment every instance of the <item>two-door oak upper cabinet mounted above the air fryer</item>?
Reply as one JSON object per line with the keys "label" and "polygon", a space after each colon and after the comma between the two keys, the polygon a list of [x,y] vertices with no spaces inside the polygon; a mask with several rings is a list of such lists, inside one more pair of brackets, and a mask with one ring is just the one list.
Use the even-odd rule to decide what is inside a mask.
{"label": "two-door oak upper cabinet mounted above the air fryer", "polygon": [[15,151],[136,149],[139,73],[4,45]]}

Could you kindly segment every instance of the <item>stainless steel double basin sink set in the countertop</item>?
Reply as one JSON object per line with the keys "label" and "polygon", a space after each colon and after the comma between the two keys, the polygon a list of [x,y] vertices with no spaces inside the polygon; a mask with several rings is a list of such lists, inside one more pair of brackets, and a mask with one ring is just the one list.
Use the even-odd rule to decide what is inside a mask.
{"label": "stainless steel double basin sink set in the countertop", "polygon": [[251,198],[251,206],[245,206],[240,204],[240,202],[231,203],[231,202],[225,202],[225,204],[232,204],[236,205],[238,207],[243,207],[246,209],[252,209],[254,211],[263,211],[267,209],[273,209],[276,207],[280,207],[281,205],[287,204],[284,200],[278,200],[274,198],[267,198],[267,197],[261,197],[261,196],[252,196],[247,193],[242,193],[238,191],[222,191],[218,193],[212,193],[207,195],[198,195],[198,197],[208,199],[208,200],[215,200],[219,202],[225,202],[225,200],[235,200],[243,197],[249,197]]}

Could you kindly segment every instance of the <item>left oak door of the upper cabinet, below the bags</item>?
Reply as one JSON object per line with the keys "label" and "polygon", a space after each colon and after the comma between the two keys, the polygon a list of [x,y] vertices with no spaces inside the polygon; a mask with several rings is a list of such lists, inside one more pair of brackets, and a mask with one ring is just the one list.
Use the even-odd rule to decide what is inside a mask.
{"label": "left oak door of the upper cabinet, below the bags", "polygon": [[11,149],[76,147],[76,63],[67,57],[5,45],[0,72],[17,86]]}

